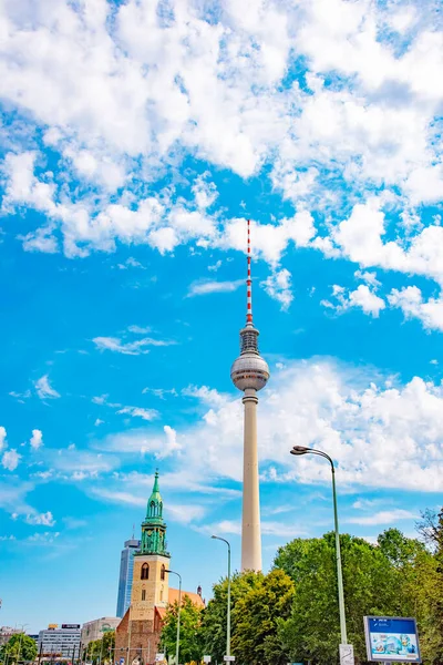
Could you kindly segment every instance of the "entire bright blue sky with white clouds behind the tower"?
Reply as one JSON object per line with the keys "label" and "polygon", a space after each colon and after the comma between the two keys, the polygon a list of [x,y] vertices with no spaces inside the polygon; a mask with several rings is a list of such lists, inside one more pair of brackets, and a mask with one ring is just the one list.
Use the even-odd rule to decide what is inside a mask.
{"label": "entire bright blue sky with white clouds behind the tower", "polygon": [[443,490],[437,3],[7,0],[0,623],[115,613],[153,473],[184,585],[239,565],[254,313],[264,564]]}

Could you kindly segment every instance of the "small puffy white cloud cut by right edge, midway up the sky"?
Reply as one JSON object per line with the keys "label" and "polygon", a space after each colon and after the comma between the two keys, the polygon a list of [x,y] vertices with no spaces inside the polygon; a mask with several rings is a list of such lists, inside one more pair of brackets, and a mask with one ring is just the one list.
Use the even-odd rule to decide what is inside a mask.
{"label": "small puffy white cloud cut by right edge, midway up the sky", "polygon": [[422,291],[416,286],[402,289],[393,288],[388,296],[391,307],[399,307],[405,318],[418,318],[423,328],[443,331],[443,298],[424,300]]}

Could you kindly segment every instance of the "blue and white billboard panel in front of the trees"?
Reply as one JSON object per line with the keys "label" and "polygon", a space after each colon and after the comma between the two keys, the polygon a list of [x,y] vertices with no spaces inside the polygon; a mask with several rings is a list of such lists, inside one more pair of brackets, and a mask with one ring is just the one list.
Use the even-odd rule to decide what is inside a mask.
{"label": "blue and white billboard panel in front of the trees", "polygon": [[421,663],[414,618],[365,616],[364,633],[368,661]]}

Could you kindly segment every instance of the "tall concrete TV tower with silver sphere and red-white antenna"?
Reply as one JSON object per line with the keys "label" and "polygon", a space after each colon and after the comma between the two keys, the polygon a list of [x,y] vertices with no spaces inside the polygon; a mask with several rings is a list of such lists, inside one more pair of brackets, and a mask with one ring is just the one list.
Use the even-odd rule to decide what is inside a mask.
{"label": "tall concrete TV tower with silver sphere and red-white antenna", "polygon": [[240,355],[230,368],[234,385],[243,390],[245,405],[243,458],[241,571],[261,570],[260,498],[257,452],[257,391],[269,379],[269,367],[258,351],[258,330],[253,324],[250,277],[250,221],[248,219],[248,278],[246,326],[240,330]]}

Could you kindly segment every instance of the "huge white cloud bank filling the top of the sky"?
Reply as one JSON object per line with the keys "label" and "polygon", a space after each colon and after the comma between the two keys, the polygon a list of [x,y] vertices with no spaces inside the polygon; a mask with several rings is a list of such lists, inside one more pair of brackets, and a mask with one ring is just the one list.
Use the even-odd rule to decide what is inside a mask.
{"label": "huge white cloud bank filling the top of the sky", "polygon": [[[383,212],[362,203],[374,185],[403,212],[442,198],[443,33],[432,8],[254,0],[247,12],[227,2],[208,20],[185,0],[165,21],[146,0],[99,0],[94,10],[61,0],[32,13],[7,2],[2,98],[44,133],[40,151],[21,134],[9,137],[3,211],[43,213],[43,226],[23,237],[28,250],[56,252],[60,237],[68,256],[116,242],[161,253],[192,241],[238,248],[237,221],[215,211],[206,171],[188,183],[187,198],[174,187],[146,194],[140,181],[161,181],[188,154],[244,178],[270,164],[275,192],[297,205],[292,217],[257,231],[257,253],[274,270],[293,242],[441,279],[437,225],[422,222],[404,245],[383,243]],[[307,71],[292,80],[295,58]],[[60,155],[54,170],[48,146]],[[344,191],[359,203],[334,228],[329,212],[341,214]],[[308,205],[326,235],[316,235]],[[288,290],[274,293],[287,306]]]}

